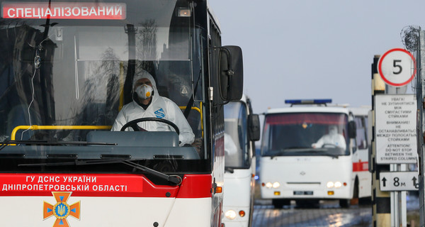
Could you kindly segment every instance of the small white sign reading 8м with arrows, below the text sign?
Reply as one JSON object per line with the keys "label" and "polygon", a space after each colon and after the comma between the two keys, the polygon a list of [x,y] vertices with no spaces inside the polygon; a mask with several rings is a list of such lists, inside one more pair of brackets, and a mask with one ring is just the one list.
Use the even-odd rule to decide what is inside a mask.
{"label": "small white sign reading 8\u043c with arrows, below the text sign", "polygon": [[418,172],[380,172],[380,190],[417,191],[419,189]]}

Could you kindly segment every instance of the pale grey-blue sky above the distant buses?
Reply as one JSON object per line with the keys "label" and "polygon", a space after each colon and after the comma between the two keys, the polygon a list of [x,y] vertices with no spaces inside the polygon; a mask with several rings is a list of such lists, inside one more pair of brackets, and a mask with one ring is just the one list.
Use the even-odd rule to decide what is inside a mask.
{"label": "pale grey-blue sky above the distant buses", "polygon": [[[425,29],[423,0],[211,0],[222,45],[239,45],[254,113],[285,99],[371,105],[374,55],[404,48],[407,26]],[[412,93],[413,83],[407,85]]]}

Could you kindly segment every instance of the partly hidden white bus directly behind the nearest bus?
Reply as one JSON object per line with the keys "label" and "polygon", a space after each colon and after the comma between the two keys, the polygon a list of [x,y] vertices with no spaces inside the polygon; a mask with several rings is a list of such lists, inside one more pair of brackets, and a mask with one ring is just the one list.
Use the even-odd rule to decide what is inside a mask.
{"label": "partly hidden white bus directly behind the nearest bus", "polygon": [[255,145],[260,139],[259,115],[247,96],[225,105],[225,186],[222,223],[251,226],[254,208]]}

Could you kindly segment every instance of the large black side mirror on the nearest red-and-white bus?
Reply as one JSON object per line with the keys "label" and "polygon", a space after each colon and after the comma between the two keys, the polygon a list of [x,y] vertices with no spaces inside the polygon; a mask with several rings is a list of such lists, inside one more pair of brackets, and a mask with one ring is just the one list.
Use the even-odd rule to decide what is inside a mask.
{"label": "large black side mirror on the nearest red-and-white bus", "polygon": [[236,45],[218,48],[219,54],[219,86],[223,101],[238,101],[244,89],[244,67],[242,49]]}

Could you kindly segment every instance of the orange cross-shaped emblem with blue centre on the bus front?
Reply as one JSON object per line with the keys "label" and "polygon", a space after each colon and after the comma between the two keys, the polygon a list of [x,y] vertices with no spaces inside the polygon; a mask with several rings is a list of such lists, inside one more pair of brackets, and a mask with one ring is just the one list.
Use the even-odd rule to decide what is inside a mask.
{"label": "orange cross-shaped emblem with blue centre on the bus front", "polygon": [[52,205],[44,202],[42,206],[42,217],[43,220],[50,218],[51,216],[56,217],[56,221],[53,227],[69,227],[67,221],[68,216],[72,216],[79,220],[80,218],[80,201],[69,206],[67,201],[72,192],[52,192],[56,199],[56,204]]}

